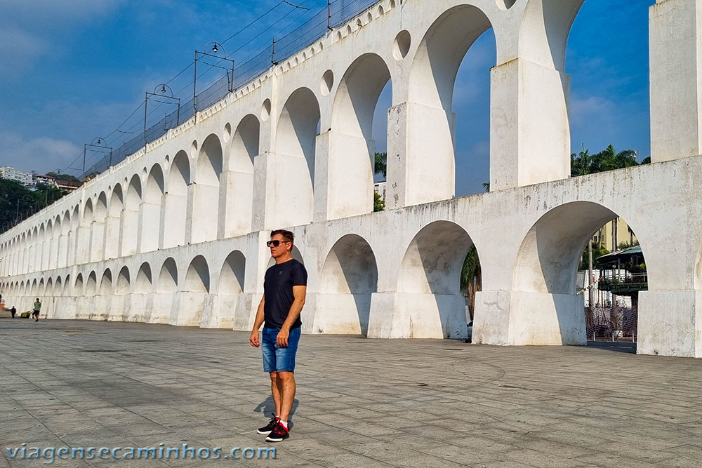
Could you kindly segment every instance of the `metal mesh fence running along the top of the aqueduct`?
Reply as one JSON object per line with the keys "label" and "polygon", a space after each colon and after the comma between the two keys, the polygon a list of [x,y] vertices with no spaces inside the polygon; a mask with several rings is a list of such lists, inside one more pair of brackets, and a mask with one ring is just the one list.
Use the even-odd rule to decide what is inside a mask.
{"label": "metal mesh fence running along the top of the aqueduct", "polygon": [[[181,105],[179,111],[166,114],[163,119],[147,128],[144,133],[140,133],[137,137],[124,142],[120,147],[114,149],[111,154],[106,154],[100,161],[86,169],[81,175],[81,179],[86,177],[86,175],[107,171],[110,165],[123,161],[127,156],[144,147],[146,143],[161,138],[169,129],[175,128],[180,123],[192,118],[196,110],[200,112],[225,98],[230,89],[237,91],[241,86],[265,73],[272,65],[283,62],[314,41],[317,41],[317,39],[320,39],[329,32],[329,28],[333,29],[343,25],[355,15],[362,13],[362,11],[376,3],[378,3],[378,0],[335,0],[331,2],[329,8],[324,8],[315,13],[303,25],[300,25],[280,39],[274,39],[274,42],[271,41],[269,46],[257,51],[253,57],[248,58],[241,65],[237,64],[234,67],[233,79],[231,75],[225,75],[211,83],[203,91],[195,95],[194,98]],[[230,80],[232,80],[232,83],[230,83]]]}

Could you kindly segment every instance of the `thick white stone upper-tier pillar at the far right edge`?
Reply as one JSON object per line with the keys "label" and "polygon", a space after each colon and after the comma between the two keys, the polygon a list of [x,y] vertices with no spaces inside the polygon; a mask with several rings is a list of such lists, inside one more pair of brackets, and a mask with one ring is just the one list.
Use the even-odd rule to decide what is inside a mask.
{"label": "thick white stone upper-tier pillar at the far right edge", "polygon": [[702,154],[702,0],[649,11],[651,161]]}

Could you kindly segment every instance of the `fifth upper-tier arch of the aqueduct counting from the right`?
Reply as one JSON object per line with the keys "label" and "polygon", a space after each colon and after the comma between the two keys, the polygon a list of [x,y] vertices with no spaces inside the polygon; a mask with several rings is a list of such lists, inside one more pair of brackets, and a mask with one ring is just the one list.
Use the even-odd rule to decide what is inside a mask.
{"label": "fifth upper-tier arch of the aqueduct counting from the right", "polygon": [[253,114],[241,119],[227,156],[225,236],[251,231],[253,215],[253,159],[258,156],[260,122]]}

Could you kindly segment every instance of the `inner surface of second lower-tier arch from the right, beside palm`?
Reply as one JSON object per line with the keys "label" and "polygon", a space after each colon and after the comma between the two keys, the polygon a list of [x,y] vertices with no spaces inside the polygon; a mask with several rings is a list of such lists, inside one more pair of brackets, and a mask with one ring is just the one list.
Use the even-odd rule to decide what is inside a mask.
{"label": "inner surface of second lower-tier arch from the right, beside palm", "polygon": [[408,337],[465,337],[461,268],[472,245],[468,232],[451,221],[426,225],[409,243],[397,277]]}

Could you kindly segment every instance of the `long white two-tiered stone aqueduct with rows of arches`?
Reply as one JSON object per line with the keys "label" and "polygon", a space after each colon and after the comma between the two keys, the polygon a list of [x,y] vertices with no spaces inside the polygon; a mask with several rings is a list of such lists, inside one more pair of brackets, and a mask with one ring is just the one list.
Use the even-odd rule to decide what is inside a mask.
{"label": "long white two-tiered stone aqueduct with rows of arches", "polygon": [[[305,333],[582,345],[576,265],[616,215],[646,255],[644,354],[702,356],[702,0],[650,11],[651,164],[569,178],[564,51],[584,0],[383,0],[0,237],[8,305],[249,330],[270,229],[310,274]],[[494,29],[491,193],[454,197],[453,85]],[[388,210],[373,109],[392,79]]]}

